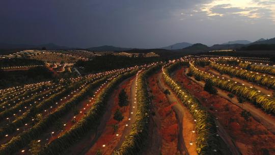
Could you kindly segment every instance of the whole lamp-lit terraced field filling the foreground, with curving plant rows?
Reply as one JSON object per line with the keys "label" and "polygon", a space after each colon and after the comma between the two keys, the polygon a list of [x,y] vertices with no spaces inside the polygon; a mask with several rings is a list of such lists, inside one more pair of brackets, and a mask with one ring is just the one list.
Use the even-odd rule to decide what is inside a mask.
{"label": "whole lamp-lit terraced field filling the foreground, with curving plant rows", "polygon": [[0,90],[0,154],[275,154],[271,66],[184,57]]}

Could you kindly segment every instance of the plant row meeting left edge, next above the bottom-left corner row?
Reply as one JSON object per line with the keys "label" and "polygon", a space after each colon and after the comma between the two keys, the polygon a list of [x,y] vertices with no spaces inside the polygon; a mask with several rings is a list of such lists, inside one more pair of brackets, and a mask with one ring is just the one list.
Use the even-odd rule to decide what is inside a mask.
{"label": "plant row meeting left edge, next above the bottom-left corner row", "polygon": [[[101,77],[101,76],[100,76]],[[74,90],[75,88],[78,88],[84,83],[87,82],[93,82],[95,80],[99,79],[99,77],[95,77],[91,80],[84,80],[79,81],[76,83],[72,83],[68,88],[64,88],[61,91],[59,91],[56,94],[51,95],[49,98],[42,101],[39,105],[33,105],[31,109],[26,111],[23,115],[16,118],[13,122],[9,123],[6,126],[0,127],[0,138],[4,137],[6,134],[11,134],[16,129],[22,125],[24,125],[26,122],[30,121],[32,117],[34,117],[36,114],[40,113],[41,111],[48,109],[50,106],[55,105],[57,101],[59,101],[64,96],[67,96],[67,94]]]}

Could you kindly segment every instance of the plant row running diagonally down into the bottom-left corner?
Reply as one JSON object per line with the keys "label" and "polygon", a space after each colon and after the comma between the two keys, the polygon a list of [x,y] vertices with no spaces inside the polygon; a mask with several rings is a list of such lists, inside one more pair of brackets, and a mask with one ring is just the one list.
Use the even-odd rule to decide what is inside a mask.
{"label": "plant row running diagonally down into the bottom-left corner", "polygon": [[106,77],[103,77],[102,79],[89,84],[79,93],[70,98],[66,102],[66,104],[63,104],[56,111],[50,113],[47,117],[40,120],[30,130],[21,133],[17,137],[12,138],[10,142],[2,145],[2,147],[0,148],[0,154],[15,153],[20,148],[28,145],[32,140],[37,139],[44,131],[47,130],[49,126],[51,126],[63,115],[66,115],[66,113],[70,111],[73,106],[77,105],[82,99],[84,99],[89,93],[91,93],[91,90],[94,90],[95,88],[100,86],[104,81],[106,81],[106,79]]}

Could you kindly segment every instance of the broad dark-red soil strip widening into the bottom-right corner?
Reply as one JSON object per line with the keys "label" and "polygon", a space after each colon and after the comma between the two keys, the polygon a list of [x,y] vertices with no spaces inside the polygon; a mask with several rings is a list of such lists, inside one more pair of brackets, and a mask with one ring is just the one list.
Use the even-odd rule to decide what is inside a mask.
{"label": "broad dark-red soil strip widening into the bottom-right corner", "polygon": [[240,107],[221,96],[209,94],[201,86],[187,79],[182,74],[184,69],[176,71],[176,80],[182,82],[182,85],[218,118],[242,154],[263,154],[265,151],[275,154],[275,135],[253,117],[246,121],[240,115]]}

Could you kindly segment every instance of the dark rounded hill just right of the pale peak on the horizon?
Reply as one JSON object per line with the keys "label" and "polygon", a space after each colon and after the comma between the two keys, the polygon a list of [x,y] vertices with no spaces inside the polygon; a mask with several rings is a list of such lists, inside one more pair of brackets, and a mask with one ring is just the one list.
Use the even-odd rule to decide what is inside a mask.
{"label": "dark rounded hill just right of the pale peak on the horizon", "polygon": [[201,44],[201,43],[196,43],[191,46],[185,47],[183,49],[178,49],[176,51],[182,51],[186,54],[197,54],[197,53],[207,52],[209,50],[211,50],[210,47],[208,47],[204,44]]}

